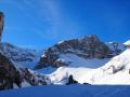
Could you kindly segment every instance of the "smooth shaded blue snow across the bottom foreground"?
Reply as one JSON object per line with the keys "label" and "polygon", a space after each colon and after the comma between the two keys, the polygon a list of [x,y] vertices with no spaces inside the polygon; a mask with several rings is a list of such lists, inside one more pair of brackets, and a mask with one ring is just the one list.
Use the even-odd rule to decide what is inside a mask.
{"label": "smooth shaded blue snow across the bottom foreground", "polygon": [[0,97],[129,97],[130,86],[47,85],[0,92]]}

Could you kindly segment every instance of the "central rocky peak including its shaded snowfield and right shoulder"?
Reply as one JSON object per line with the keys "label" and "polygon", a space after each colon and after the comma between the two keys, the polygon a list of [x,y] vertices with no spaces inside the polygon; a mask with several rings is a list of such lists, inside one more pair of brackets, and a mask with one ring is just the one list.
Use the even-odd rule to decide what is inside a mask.
{"label": "central rocky peak including its shaded snowfield and right shoulder", "polygon": [[[87,65],[90,61],[89,64],[91,64],[93,63],[92,59],[104,65],[109,58],[120,54],[125,48],[126,46],[121,43],[104,43],[94,34],[86,36],[82,39],[63,41],[49,47],[35,69],[42,69],[49,66],[57,68],[74,64],[75,66],[77,64],[82,66],[81,63]],[[79,63],[75,63],[77,60]]]}

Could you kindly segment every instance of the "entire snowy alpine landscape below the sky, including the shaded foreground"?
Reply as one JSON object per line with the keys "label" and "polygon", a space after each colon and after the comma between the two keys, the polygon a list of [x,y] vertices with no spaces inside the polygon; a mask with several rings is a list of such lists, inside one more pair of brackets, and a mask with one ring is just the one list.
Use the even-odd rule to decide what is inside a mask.
{"label": "entire snowy alpine landscape below the sky, including the shaded foreground", "polygon": [[1,42],[3,18],[0,12],[0,97],[129,97],[130,40],[87,34],[23,48]]}

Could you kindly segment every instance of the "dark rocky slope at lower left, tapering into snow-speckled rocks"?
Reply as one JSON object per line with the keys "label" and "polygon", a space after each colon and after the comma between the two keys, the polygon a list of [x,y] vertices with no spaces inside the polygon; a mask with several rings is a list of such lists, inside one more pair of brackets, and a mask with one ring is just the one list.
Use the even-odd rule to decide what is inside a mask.
{"label": "dark rocky slope at lower left, tapering into snow-speckled rocks", "polygon": [[0,53],[0,91],[50,84],[50,79],[29,69],[18,68]]}

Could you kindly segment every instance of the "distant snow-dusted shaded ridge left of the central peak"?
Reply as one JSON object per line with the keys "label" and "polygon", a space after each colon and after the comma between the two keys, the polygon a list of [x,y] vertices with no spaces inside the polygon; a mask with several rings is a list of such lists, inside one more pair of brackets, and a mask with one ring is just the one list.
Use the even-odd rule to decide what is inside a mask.
{"label": "distant snow-dusted shaded ridge left of the central peak", "polygon": [[40,60],[41,53],[36,50],[21,48],[11,43],[1,43],[2,53],[20,67],[32,69]]}

